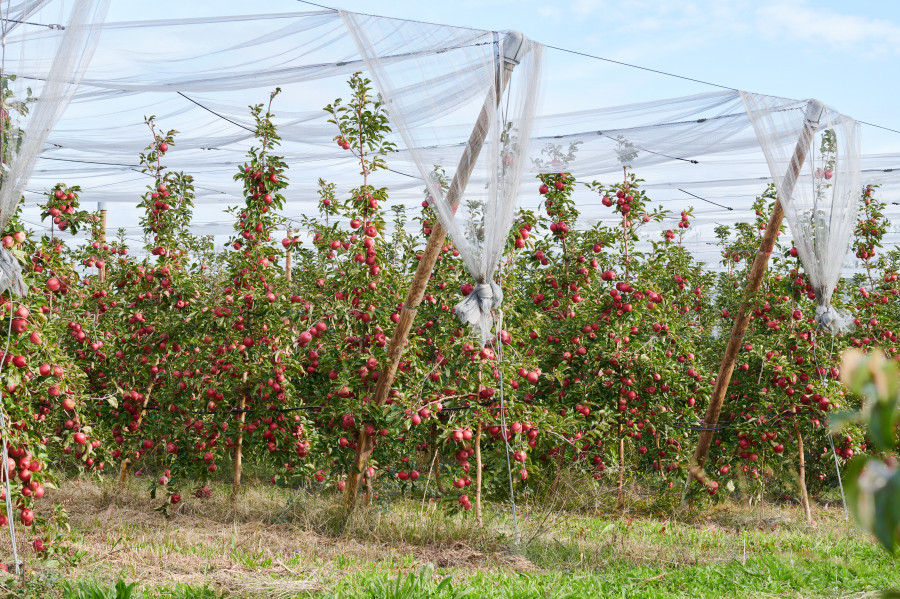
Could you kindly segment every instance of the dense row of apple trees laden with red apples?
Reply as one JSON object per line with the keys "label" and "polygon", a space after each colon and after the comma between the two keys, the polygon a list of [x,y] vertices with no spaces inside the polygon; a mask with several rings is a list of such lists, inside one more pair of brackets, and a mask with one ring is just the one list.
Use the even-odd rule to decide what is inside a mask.
{"label": "dense row of apple trees laden with red apples", "polygon": [[[475,508],[474,518],[482,497],[508,501],[510,477],[527,496],[564,471],[615,489],[620,504],[633,483],[680,498],[773,189],[760,189],[754,220],[716,230],[721,264],[711,268],[683,243],[687,206],[677,227],[639,242],[670,216],[651,209],[639,172],[542,174],[530,192],[541,210],[517,214],[503,254],[502,330],[482,346],[455,317],[473,287],[445,241],[388,401],[375,405],[437,217],[427,194],[421,208],[385,208],[379,172],[395,149],[387,115],[368,80],[355,75],[349,86],[348,103],[326,110],[335,142],[359,163],[357,187],[339,197],[319,180],[318,214],[282,215],[290,185],[315,182],[290,181],[278,156],[276,91],[252,107],[256,142],[234,175],[245,202],[231,211],[225,252],[191,234],[193,179],[166,168],[178,137],[153,118],[140,152],[151,180],[139,204],[146,257],[134,258],[124,235],[106,238],[99,213],[81,208],[89,198],[77,181],[47,191],[53,235],[11,221],[2,242],[28,294],[3,296],[14,513],[0,520],[30,527],[36,550],[52,551],[63,534],[64,513],[52,508],[60,479],[141,476],[165,513],[203,501],[213,480],[238,493],[248,469],[333,494],[363,430],[373,439],[366,501],[426,493],[447,510]],[[572,194],[585,185],[614,226],[576,226]],[[853,248],[865,268],[835,295],[854,331],[817,330],[815,295],[783,235],[751,299],[707,478],[689,487],[695,500],[798,500],[798,470],[815,495],[837,485],[835,455],[843,464],[867,451],[853,427],[831,439],[832,451],[826,427],[830,411],[859,403],[836,382],[840,352],[897,352],[900,252],[881,248],[888,223],[877,189],[860,189],[859,202]],[[87,242],[67,242],[80,229]]]}

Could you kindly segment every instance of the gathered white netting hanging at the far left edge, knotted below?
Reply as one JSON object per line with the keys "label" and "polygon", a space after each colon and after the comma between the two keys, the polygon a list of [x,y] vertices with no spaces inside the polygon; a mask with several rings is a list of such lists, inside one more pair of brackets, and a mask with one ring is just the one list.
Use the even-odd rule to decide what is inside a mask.
{"label": "gathered white netting hanging at the far left edge, knotted below", "polygon": [[[96,47],[109,0],[0,2],[0,230],[15,213],[53,125]],[[24,295],[21,268],[0,250],[0,293]]]}

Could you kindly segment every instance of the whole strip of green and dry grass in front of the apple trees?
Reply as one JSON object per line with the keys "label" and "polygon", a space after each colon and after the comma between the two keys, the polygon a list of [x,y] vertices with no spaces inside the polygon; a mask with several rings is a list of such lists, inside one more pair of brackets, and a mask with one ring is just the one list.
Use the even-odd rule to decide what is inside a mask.
{"label": "whole strip of green and dry grass in front of the apple trees", "polygon": [[[83,557],[55,572],[30,564],[31,591],[9,596],[875,597],[900,587],[894,558],[824,506],[807,525],[793,506],[632,518],[526,502],[516,545],[502,505],[478,527],[470,513],[392,498],[345,528],[335,496],[253,485],[233,505],[224,485],[214,491],[167,520],[137,483],[63,485],[70,551]],[[113,594],[120,580],[135,584],[128,598]]]}

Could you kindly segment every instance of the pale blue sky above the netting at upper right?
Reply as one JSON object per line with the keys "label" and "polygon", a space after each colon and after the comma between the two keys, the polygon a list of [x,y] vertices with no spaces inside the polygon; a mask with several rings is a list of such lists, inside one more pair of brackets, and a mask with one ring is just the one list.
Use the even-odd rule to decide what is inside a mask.
{"label": "pale blue sky above the netting at upper right", "polygon": [[[875,0],[392,0],[325,1],[358,12],[519,29],[548,45],[791,98],[816,97],[844,114],[900,130],[900,2]],[[302,2],[267,2],[290,9]],[[637,76],[550,53],[547,80],[580,80],[582,99],[618,104],[711,91],[663,76]],[[575,65],[567,66],[567,62]],[[587,75],[587,76],[585,76]],[[591,75],[595,75],[592,81]],[[609,81],[609,84],[604,84]],[[613,86],[624,82],[622,87]],[[632,86],[641,89],[632,89]],[[624,89],[628,88],[628,89]],[[590,91],[588,91],[590,90]],[[605,97],[598,98],[596,94]],[[865,127],[867,153],[900,149],[900,134]]]}

